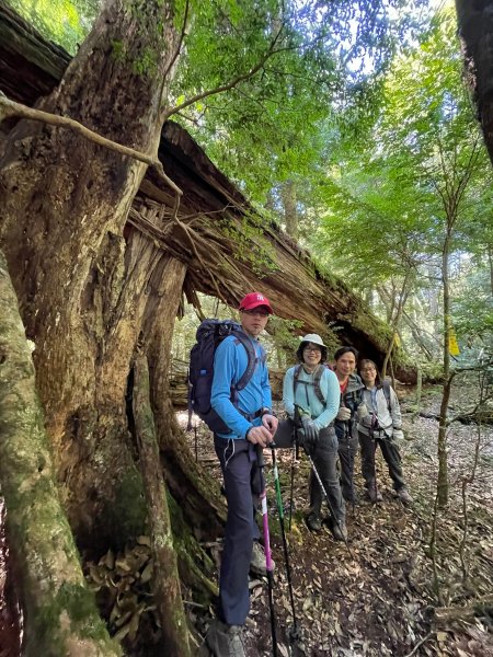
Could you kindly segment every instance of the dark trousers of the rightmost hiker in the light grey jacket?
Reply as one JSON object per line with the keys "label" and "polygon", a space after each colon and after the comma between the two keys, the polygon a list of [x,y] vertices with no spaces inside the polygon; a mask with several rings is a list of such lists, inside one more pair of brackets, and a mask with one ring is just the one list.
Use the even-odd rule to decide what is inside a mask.
{"label": "dark trousers of the rightmost hiker in the light grey jacket", "polygon": [[377,475],[375,469],[375,456],[377,447],[380,446],[383,459],[389,468],[389,474],[393,481],[395,491],[405,486],[402,474],[401,454],[399,448],[392,438],[388,437],[383,430],[375,431],[374,437],[366,436],[358,431],[359,446],[362,448],[362,474],[365,480],[365,486],[368,491],[377,489]]}

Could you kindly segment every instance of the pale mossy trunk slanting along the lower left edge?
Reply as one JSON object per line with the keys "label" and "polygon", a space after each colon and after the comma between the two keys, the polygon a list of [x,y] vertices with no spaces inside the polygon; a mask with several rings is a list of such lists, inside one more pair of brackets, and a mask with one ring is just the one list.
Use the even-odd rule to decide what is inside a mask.
{"label": "pale mossy trunk slanting along the lower left edge", "polygon": [[99,616],[60,505],[7,263],[0,252],[0,480],[25,615],[26,657],[117,656]]}

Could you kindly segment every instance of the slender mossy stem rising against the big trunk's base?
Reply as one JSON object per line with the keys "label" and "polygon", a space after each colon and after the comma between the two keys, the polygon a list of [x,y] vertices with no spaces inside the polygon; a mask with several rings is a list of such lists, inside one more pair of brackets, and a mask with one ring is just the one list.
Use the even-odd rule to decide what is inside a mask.
{"label": "slender mossy stem rising against the big trunk's base", "polygon": [[170,511],[159,459],[154,419],[149,399],[147,358],[138,354],[134,366],[134,419],[145,482],[154,569],[152,590],[169,655],[188,657],[188,632],[180,590]]}

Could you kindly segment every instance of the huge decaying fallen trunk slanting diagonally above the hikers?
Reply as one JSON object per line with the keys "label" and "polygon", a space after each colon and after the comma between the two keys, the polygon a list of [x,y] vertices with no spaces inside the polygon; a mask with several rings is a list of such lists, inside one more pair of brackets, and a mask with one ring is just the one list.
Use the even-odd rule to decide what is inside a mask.
{"label": "huge decaying fallen trunk slanting diagonally above the hikers", "polygon": [[[5,64],[0,88],[14,100],[33,103],[36,80],[38,94],[47,93],[50,81],[57,83],[70,58],[0,3],[2,34],[15,34],[15,39],[0,39],[0,57]],[[23,84],[24,78],[28,85]],[[391,339],[388,327],[342,280],[323,272],[274,222],[262,218],[190,135],[172,122],[162,130],[159,159],[183,189],[180,215],[174,216],[174,194],[148,171],[128,221],[186,264],[184,291],[191,302],[202,291],[234,308],[246,291],[261,289],[276,314],[302,322],[302,332],[323,335],[332,323],[341,342],[382,362]],[[152,214],[162,219],[159,229],[149,227]],[[414,372],[399,367],[399,354],[395,360],[399,379],[412,380]]]}

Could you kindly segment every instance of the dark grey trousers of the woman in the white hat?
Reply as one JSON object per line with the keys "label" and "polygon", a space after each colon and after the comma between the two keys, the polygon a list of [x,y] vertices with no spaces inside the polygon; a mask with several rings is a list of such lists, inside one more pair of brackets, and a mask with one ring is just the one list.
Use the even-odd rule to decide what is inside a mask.
{"label": "dark grey trousers of the woman in the white hat", "polygon": [[[344,525],[346,510],[339,481],[337,438],[333,427],[326,427],[320,431],[317,447],[310,456],[329,497],[330,507],[333,511],[331,511],[331,516],[334,515],[340,525]],[[310,472],[309,489],[310,516],[320,516],[322,502],[326,502],[326,499],[313,472]]]}

